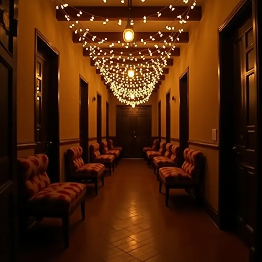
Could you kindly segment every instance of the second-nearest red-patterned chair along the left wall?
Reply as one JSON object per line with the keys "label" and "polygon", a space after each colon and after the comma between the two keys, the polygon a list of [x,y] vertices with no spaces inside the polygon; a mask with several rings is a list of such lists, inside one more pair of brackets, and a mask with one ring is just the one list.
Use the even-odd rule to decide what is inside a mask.
{"label": "second-nearest red-patterned chair along the left wall", "polygon": [[101,179],[104,185],[105,165],[100,163],[85,164],[82,159],[83,149],[81,146],[69,148],[67,155],[68,179],[74,181],[89,180],[95,184],[95,193],[98,194],[98,181]]}

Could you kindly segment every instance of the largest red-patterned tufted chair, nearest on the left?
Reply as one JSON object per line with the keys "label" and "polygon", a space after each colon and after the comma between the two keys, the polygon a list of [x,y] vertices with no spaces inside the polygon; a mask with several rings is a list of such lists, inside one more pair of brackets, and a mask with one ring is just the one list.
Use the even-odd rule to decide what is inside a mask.
{"label": "largest red-patterned tufted chair, nearest on the left", "polygon": [[18,159],[20,213],[28,217],[62,218],[64,247],[69,246],[70,216],[81,205],[85,219],[86,187],[80,183],[50,183],[48,157],[37,154]]}

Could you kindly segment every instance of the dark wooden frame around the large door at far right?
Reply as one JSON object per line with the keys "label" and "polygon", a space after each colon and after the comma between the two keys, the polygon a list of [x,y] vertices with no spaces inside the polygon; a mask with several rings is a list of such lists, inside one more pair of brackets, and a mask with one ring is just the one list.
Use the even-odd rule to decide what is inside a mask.
{"label": "dark wooden frame around the large door at far right", "polygon": [[[260,2],[260,3],[259,3]],[[243,24],[244,18],[247,13],[252,12],[253,20],[253,35],[254,35],[254,50],[256,56],[256,65],[254,66],[255,84],[257,86],[257,126],[255,131],[257,134],[256,143],[256,163],[255,163],[255,174],[256,174],[256,223],[254,228],[255,233],[255,246],[250,248],[250,261],[261,259],[261,248],[258,248],[258,244],[261,243],[261,194],[259,190],[262,187],[261,178],[261,165],[259,165],[259,156],[261,156],[262,140],[259,137],[261,134],[261,114],[259,114],[260,101],[262,98],[262,92],[259,92],[259,84],[261,79],[259,75],[261,73],[261,67],[259,67],[259,58],[261,58],[261,51],[258,50],[258,32],[261,31],[261,17],[258,15],[258,6],[261,8],[261,1],[258,0],[241,0],[238,5],[234,8],[227,19],[221,24],[218,29],[218,44],[219,44],[219,228],[222,230],[232,230],[233,211],[231,208],[232,204],[232,183],[234,181],[230,179],[231,166],[230,160],[232,156],[233,135],[229,133],[228,128],[230,122],[232,122],[233,112],[232,108],[232,72],[233,61],[230,60],[230,48],[226,39],[228,30],[234,30],[236,26]],[[252,9],[252,11],[251,11]],[[241,23],[242,22],[242,23]],[[259,26],[258,26],[259,25]],[[259,31],[260,30],[260,31]],[[259,57],[260,56],[260,57]],[[226,59],[225,59],[226,57]],[[229,59],[228,59],[229,58]],[[231,57],[232,58],[232,57]],[[230,63],[230,61],[232,61]],[[259,81],[260,80],[260,81]],[[230,93],[231,91],[231,93]],[[231,114],[229,112],[232,112]]]}

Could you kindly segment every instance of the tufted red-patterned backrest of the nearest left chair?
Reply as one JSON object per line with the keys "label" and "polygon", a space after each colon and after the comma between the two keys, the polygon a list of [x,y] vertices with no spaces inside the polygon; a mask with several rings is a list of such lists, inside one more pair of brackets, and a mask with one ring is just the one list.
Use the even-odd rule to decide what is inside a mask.
{"label": "tufted red-patterned backrest of the nearest left chair", "polygon": [[50,179],[46,173],[48,167],[46,155],[27,156],[17,161],[19,197],[23,200],[28,200],[50,185]]}

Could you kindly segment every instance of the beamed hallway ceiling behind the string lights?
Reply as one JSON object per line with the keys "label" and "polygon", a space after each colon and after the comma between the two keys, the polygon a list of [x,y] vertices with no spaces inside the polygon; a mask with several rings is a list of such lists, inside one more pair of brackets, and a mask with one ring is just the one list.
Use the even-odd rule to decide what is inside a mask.
{"label": "beamed hallway ceiling behind the string lights", "polygon": [[[66,13],[70,16],[70,19],[73,18],[74,20],[78,20],[79,24],[81,24],[84,29],[89,29],[89,37],[86,36],[84,38],[84,41],[80,38],[79,31],[76,34],[74,33],[74,31],[72,33],[74,43],[82,45],[84,43],[84,56],[89,56],[90,54],[89,48],[88,50],[86,50],[86,47],[90,45],[97,45],[108,52],[107,57],[111,56],[111,54],[109,54],[110,50],[113,50],[113,54],[116,54],[115,58],[117,58],[117,56],[119,56],[121,52],[124,52],[124,54],[121,55],[122,59],[124,57],[127,58],[130,53],[132,54],[132,57],[134,59],[138,59],[138,61],[135,62],[137,65],[138,63],[145,63],[146,59],[156,59],[161,55],[157,53],[156,47],[154,47],[154,45],[157,44],[159,46],[159,49],[162,48],[161,53],[163,50],[165,51],[169,48],[167,52],[168,54],[170,54],[171,57],[166,57],[167,66],[164,68],[163,75],[160,76],[160,79],[156,82],[155,88],[153,90],[157,91],[158,88],[161,86],[161,81],[165,80],[165,74],[169,72],[168,67],[173,66],[173,58],[180,55],[181,45],[186,45],[188,43],[190,37],[190,26],[193,23],[198,23],[198,21],[200,21],[202,17],[201,4],[204,0],[197,0],[194,9],[190,9],[190,6],[194,2],[193,0],[184,1],[188,1],[188,3],[185,4],[183,0],[145,0],[144,2],[142,2],[141,0],[132,0],[131,10],[133,10],[133,30],[135,33],[134,42],[136,43],[136,45],[130,43],[129,47],[131,48],[125,48],[126,43],[123,41],[122,36],[123,31],[127,25],[127,17],[129,15],[128,0],[124,0],[124,4],[121,3],[121,0],[107,0],[107,3],[104,3],[103,0],[67,0],[65,2],[68,3],[69,6],[67,8],[64,8],[64,10],[61,10],[59,8],[56,11],[56,17],[58,21],[61,21],[61,23],[70,24],[70,22],[66,21],[65,13],[63,13],[63,11],[66,11]],[[55,2],[61,3],[61,0],[55,0]],[[173,12],[169,8],[170,4],[172,4],[172,7],[175,7],[175,10]],[[72,6],[73,8],[70,6]],[[161,9],[163,8],[165,9],[161,11]],[[77,16],[77,12],[79,12],[79,10],[83,11],[80,17]],[[179,23],[180,19],[177,18],[177,15],[183,15],[183,13],[186,14],[188,10],[189,18],[186,21],[187,23]],[[158,17],[157,11],[161,12],[160,17]],[[90,21],[91,14],[94,15],[94,21]],[[147,17],[146,23],[143,22],[143,16]],[[185,17],[182,17],[181,20],[186,19]],[[106,24],[103,24],[105,19],[109,19],[109,21]],[[119,19],[122,20],[121,25],[118,24]],[[167,25],[170,27],[175,26],[175,30],[170,31],[165,29]],[[73,29],[76,28],[77,27],[74,27]],[[182,33],[179,33],[179,29],[183,29],[184,31]],[[161,31],[161,33],[163,34],[162,37],[160,37],[160,35],[158,34],[159,31]],[[91,40],[93,36],[96,36],[96,40],[94,42]],[[155,41],[151,41],[150,36],[153,36],[155,38]],[[176,39],[176,37],[179,37],[179,41],[171,42],[170,36],[173,36],[174,39]],[[105,38],[107,38],[107,41],[99,43],[100,40]],[[79,39],[81,39],[81,41],[79,41]],[[146,40],[146,45],[141,39]],[[167,43],[170,40],[170,45],[163,42],[165,39],[167,40]],[[120,41],[120,43],[118,43],[118,41]],[[112,43],[114,43],[114,46],[110,46]],[[162,47],[163,44],[167,45],[166,49]],[[171,48],[173,47],[172,50],[170,46]],[[153,56],[150,56],[148,49],[152,50],[154,54]],[[142,51],[142,53],[139,54],[139,51]],[[103,52],[104,51],[102,51],[101,53]],[[143,59],[145,60],[141,58],[141,55],[144,56]],[[164,56],[167,56],[167,54]],[[115,58],[113,58],[115,60],[114,62],[120,63]],[[129,62],[131,61],[126,60],[124,64],[133,65],[133,63]],[[95,66],[95,61],[92,59],[91,66]],[[137,68],[139,68],[139,66]],[[149,70],[152,70],[151,64]],[[100,69],[97,69],[96,72],[100,74]],[[101,76],[101,80],[104,81],[104,77]],[[107,85],[107,87],[110,88],[109,85]]]}

